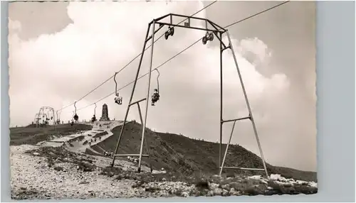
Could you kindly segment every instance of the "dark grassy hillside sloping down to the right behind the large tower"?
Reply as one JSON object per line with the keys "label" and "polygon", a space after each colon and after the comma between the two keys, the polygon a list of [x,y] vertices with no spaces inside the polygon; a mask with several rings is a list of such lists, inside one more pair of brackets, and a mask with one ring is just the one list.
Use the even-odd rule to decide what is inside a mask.
{"label": "dark grassy hillside sloping down to the right behind the large tower", "polygon": [[[124,135],[118,153],[139,153],[141,124],[130,122],[126,124]],[[120,134],[121,126],[113,129],[114,136],[98,144],[101,148],[114,151]],[[219,162],[219,144],[207,141],[197,141],[184,136],[171,133],[155,133],[146,128],[146,139],[149,147],[150,159],[154,169],[164,168],[183,175],[192,175],[203,172],[205,174],[216,173]],[[95,148],[95,146],[93,146]],[[226,145],[223,146],[223,150]],[[144,153],[146,149],[144,148]],[[237,164],[237,165],[236,165]],[[226,166],[239,166],[244,168],[263,168],[261,158],[241,146],[229,147],[229,155],[226,157]],[[304,172],[290,168],[267,165],[270,173],[281,174],[284,177],[292,177],[297,180],[315,181],[316,172]],[[263,175],[263,172],[246,170],[224,170],[227,173],[239,173],[245,175]]]}

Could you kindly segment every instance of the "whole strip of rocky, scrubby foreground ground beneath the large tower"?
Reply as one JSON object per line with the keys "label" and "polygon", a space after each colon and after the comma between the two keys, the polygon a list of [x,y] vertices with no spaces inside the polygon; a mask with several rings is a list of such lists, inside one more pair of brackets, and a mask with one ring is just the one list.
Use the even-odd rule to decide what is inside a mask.
{"label": "whole strip of rocky, scrubby foreground ground beneath the large tower", "polygon": [[257,194],[314,194],[315,182],[271,175],[185,177],[160,173],[127,160],[110,168],[110,158],[74,153],[66,148],[11,146],[12,199],[90,199],[196,197]]}

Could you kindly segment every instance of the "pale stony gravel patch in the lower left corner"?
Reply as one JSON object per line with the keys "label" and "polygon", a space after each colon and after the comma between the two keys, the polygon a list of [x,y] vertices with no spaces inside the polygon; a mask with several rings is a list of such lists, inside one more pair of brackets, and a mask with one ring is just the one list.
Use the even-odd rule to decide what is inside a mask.
{"label": "pale stony gravel patch in the lower left corner", "polygon": [[[33,149],[33,146],[20,147]],[[51,170],[46,158],[25,154],[23,149],[11,147],[12,198],[113,198],[130,197],[135,193],[131,188],[135,182],[131,180],[114,183],[109,177],[99,175],[98,170],[78,172],[75,165],[69,163],[56,166],[62,167],[64,171]]]}

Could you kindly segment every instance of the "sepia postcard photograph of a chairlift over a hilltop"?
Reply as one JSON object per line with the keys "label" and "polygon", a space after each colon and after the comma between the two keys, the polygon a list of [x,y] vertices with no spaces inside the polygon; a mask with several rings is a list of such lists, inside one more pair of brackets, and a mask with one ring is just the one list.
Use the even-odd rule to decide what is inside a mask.
{"label": "sepia postcard photograph of a chairlift over a hilltop", "polygon": [[11,199],[318,193],[315,1],[18,1],[8,20]]}

